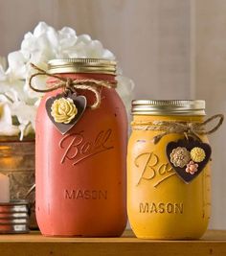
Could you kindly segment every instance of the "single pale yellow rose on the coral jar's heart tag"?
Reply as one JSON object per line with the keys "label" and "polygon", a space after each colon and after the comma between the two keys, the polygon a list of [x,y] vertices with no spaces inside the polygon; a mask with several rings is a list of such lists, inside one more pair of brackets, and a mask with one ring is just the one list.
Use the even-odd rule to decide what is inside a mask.
{"label": "single pale yellow rose on the coral jar's heart tag", "polygon": [[51,106],[51,115],[56,123],[69,124],[78,114],[78,109],[70,98],[59,98]]}

